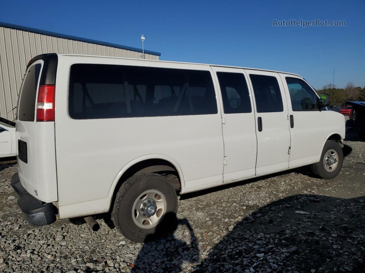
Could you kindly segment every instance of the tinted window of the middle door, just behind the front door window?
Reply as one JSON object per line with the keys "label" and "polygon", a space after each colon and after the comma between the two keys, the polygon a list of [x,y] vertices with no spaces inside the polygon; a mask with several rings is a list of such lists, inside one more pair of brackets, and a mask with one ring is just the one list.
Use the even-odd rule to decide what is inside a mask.
{"label": "tinted window of the middle door, just behind the front door window", "polygon": [[283,112],[280,87],[274,76],[250,74],[258,113]]}

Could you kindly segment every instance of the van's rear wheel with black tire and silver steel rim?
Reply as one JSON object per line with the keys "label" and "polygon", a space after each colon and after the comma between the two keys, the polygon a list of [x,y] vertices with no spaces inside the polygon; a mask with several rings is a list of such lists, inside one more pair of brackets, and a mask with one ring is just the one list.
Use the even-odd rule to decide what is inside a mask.
{"label": "van's rear wheel with black tire and silver steel rim", "polygon": [[177,195],[172,184],[162,175],[143,173],[127,179],[118,190],[112,220],[124,237],[145,242],[168,232],[176,212]]}

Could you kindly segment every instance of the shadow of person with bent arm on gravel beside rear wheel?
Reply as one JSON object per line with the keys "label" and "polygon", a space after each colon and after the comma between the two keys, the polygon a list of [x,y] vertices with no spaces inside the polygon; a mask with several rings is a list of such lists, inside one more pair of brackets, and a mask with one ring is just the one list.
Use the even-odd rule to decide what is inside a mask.
{"label": "shadow of person with bent arm on gravel beside rear wheel", "polygon": [[[170,232],[165,237],[153,240],[154,235],[147,237],[138,258],[134,262],[131,272],[181,272],[184,265],[199,260],[199,249],[193,229],[187,219],[177,219],[171,213],[165,217],[171,218]],[[157,226],[158,228],[158,226]],[[189,235],[190,240],[176,238],[176,229],[184,231],[184,238]],[[160,233],[161,231],[156,231]]]}

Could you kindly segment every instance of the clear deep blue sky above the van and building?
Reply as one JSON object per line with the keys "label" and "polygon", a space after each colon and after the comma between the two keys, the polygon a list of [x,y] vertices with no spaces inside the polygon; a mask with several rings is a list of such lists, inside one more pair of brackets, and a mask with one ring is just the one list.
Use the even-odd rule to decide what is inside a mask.
{"label": "clear deep blue sky above the van and building", "polygon": [[[161,52],[161,60],[289,71],[365,86],[365,1],[4,1],[0,21]],[[343,20],[346,27],[273,27]]]}

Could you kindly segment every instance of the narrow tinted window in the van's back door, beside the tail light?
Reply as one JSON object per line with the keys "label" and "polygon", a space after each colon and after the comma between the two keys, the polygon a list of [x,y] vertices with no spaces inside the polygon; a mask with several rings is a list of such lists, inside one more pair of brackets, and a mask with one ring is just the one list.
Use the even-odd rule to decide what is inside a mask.
{"label": "narrow tinted window in the van's back door, beside the tail light", "polygon": [[23,121],[34,121],[35,95],[41,64],[31,66],[24,76],[23,88],[20,94],[18,106],[18,119]]}

